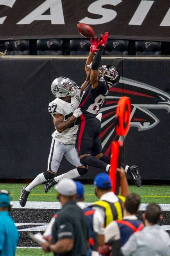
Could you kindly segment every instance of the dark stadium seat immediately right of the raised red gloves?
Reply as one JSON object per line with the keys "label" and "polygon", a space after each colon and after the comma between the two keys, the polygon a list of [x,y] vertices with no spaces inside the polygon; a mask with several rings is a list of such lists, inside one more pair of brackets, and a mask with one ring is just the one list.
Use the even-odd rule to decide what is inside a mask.
{"label": "dark stadium seat immediately right of the raised red gloves", "polygon": [[129,41],[109,39],[103,55],[129,55]]}

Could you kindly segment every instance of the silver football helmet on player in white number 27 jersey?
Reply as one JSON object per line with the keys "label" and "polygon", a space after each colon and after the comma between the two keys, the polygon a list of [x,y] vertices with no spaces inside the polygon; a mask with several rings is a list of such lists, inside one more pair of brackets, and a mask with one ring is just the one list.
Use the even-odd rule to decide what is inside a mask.
{"label": "silver football helmet on player in white number 27 jersey", "polygon": [[76,89],[77,84],[66,77],[57,77],[51,84],[51,91],[56,98],[74,96]]}

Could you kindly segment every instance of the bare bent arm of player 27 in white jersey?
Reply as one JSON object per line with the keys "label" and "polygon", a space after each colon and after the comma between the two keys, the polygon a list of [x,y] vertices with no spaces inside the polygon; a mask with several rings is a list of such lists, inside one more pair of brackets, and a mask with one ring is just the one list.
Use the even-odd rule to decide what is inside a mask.
{"label": "bare bent arm of player 27 in white jersey", "polygon": [[76,117],[72,115],[66,121],[64,121],[64,117],[62,114],[54,114],[53,122],[55,129],[57,130],[57,132],[61,133],[66,130],[75,119]]}

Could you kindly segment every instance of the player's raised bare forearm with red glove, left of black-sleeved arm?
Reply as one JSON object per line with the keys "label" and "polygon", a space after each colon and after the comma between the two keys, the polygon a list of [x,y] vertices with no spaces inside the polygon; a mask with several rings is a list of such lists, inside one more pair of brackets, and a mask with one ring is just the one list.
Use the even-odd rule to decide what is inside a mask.
{"label": "player's raised bare forearm with red glove, left of black-sleeved arm", "polygon": [[88,75],[89,70],[90,70],[88,65],[93,61],[95,52],[98,51],[98,46],[100,46],[100,38],[98,38],[98,40],[97,40],[97,37],[95,37],[94,41],[91,38],[90,42],[91,42],[90,51],[89,51],[88,58],[86,60],[86,65],[85,65],[85,71],[86,71],[87,75]]}

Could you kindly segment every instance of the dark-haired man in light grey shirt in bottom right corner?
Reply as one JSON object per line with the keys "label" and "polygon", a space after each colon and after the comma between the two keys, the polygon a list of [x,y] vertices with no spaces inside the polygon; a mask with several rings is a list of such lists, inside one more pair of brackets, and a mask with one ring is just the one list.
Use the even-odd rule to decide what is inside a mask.
{"label": "dark-haired man in light grey shirt in bottom right corner", "polygon": [[121,248],[124,256],[170,256],[170,236],[158,225],[162,219],[161,208],[154,203],[142,215],[146,227],[132,234]]}

